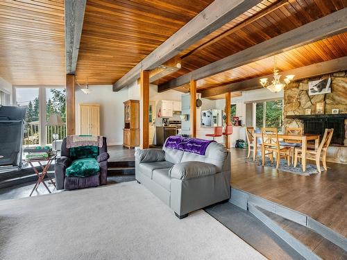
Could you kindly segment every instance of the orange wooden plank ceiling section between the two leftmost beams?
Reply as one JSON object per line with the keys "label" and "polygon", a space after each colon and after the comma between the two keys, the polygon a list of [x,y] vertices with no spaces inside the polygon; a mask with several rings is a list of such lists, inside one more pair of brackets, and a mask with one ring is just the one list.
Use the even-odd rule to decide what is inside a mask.
{"label": "orange wooden plank ceiling section between the two leftmost beams", "polygon": [[76,78],[112,84],[213,0],[88,0]]}

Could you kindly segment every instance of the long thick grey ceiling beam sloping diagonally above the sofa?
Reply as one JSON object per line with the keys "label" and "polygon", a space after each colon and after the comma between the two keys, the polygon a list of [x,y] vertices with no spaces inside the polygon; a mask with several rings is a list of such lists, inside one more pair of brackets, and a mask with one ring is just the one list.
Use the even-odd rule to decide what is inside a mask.
{"label": "long thick grey ceiling beam sloping diagonally above the sofa", "polygon": [[139,78],[140,71],[151,70],[160,66],[180,51],[187,49],[198,40],[242,15],[260,2],[261,0],[215,0],[114,83],[113,91],[117,92],[133,83]]}

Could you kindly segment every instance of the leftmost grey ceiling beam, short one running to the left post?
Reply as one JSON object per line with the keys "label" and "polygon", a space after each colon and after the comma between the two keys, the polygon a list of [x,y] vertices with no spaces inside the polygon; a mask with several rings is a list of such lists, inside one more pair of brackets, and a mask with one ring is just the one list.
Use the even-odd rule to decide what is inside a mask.
{"label": "leftmost grey ceiling beam, short one running to the left post", "polygon": [[86,3],[87,0],[65,0],[65,60],[67,74],[74,74],[76,71]]}

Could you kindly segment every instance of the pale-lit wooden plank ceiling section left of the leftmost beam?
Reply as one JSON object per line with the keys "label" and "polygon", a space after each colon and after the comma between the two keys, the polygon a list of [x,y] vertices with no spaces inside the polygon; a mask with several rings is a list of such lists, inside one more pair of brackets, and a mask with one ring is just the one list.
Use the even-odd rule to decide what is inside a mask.
{"label": "pale-lit wooden plank ceiling section left of the leftmost beam", "polygon": [[0,77],[65,85],[64,0],[0,1]]}

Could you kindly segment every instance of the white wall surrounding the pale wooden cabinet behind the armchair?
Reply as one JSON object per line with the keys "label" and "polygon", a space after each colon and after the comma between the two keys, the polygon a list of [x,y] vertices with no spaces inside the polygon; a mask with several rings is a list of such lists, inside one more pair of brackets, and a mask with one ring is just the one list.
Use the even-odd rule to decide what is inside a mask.
{"label": "white wall surrounding the pale wooden cabinet behind the armchair", "polygon": [[[100,134],[108,138],[108,145],[123,144],[124,104],[128,100],[128,88],[112,91],[112,85],[90,86],[92,92],[84,94],[76,90],[76,132],[78,133],[78,103],[100,104]],[[135,99],[135,98],[133,98]],[[138,98],[137,98],[138,99]]]}

